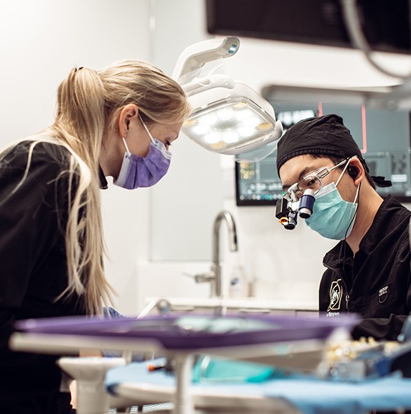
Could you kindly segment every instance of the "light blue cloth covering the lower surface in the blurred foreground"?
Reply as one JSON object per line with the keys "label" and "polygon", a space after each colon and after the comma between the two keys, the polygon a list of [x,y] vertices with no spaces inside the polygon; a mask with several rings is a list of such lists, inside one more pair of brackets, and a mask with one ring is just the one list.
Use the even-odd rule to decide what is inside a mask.
{"label": "light blue cloth covering the lower surface in the blurred foreground", "polygon": [[[152,361],[150,361],[152,363]],[[155,363],[162,364],[158,359]],[[116,394],[118,384],[128,382],[173,386],[175,377],[163,370],[148,372],[148,362],[135,362],[112,368],[106,375],[106,387]],[[274,378],[259,383],[192,384],[193,387],[216,388],[234,395],[265,395],[282,398],[307,414],[365,414],[368,411],[411,409],[411,379],[392,374],[362,382],[326,381],[301,374]],[[274,404],[274,403],[273,403]]]}

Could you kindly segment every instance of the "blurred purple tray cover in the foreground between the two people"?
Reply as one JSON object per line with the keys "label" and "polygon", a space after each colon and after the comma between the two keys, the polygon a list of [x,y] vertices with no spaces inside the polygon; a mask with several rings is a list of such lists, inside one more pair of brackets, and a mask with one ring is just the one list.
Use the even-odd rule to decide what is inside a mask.
{"label": "blurred purple tray cover in the foreground between the two people", "polygon": [[[206,324],[206,328],[192,329],[184,325],[187,321],[198,321]],[[228,328],[216,331],[214,326],[219,322]],[[349,330],[356,323],[354,316],[314,318],[173,313],[141,319],[83,316],[26,319],[16,322],[15,327],[17,331],[27,333],[154,339],[167,349],[195,349],[326,339],[334,329],[344,327]]]}

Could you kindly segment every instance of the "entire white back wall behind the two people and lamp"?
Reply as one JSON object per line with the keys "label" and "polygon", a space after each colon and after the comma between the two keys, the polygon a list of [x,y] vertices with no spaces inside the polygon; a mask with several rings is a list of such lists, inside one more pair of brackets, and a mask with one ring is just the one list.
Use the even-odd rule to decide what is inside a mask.
{"label": "entire white back wall behind the two people and lamp", "polygon": [[[52,122],[57,85],[72,66],[98,69],[137,58],[171,74],[183,48],[209,37],[203,0],[1,1],[0,146]],[[225,69],[257,90],[269,83],[336,87],[392,81],[355,53],[252,39],[242,39]],[[174,152],[170,174],[158,187],[126,191],[110,186],[102,192],[111,257],[106,269],[119,294],[118,310],[137,313],[147,297],[206,297],[208,286],[195,285],[183,273],[210,267],[212,219],[220,208],[232,212],[239,233],[236,258],[226,253],[223,237],[225,274],[239,259],[246,276],[256,280],[259,297],[296,307],[316,304],[323,253],[334,243],[302,225],[283,230],[273,208],[234,206],[230,158],[201,152],[183,136]],[[165,219],[158,221],[161,216]],[[182,249],[187,257],[171,260],[160,254],[152,262],[163,235],[166,246],[156,251],[188,244]]]}

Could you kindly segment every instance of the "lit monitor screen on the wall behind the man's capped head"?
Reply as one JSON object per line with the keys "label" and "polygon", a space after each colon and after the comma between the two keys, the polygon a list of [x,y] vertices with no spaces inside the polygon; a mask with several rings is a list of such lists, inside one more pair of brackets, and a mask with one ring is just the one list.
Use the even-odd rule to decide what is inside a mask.
{"label": "lit monitor screen on the wall behind the man's capped head", "polygon": [[[292,103],[271,101],[284,130],[308,117],[334,113],[350,129],[370,175],[392,181],[391,187],[379,188],[382,196],[391,194],[401,202],[411,202],[410,112],[385,110],[336,103]],[[257,162],[236,162],[237,206],[272,206],[283,196],[276,167],[277,152]]]}

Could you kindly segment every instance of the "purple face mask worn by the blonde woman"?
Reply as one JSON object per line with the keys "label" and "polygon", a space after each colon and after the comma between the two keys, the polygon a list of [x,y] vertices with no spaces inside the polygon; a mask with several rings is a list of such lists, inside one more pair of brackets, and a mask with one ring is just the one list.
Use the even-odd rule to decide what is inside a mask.
{"label": "purple face mask worn by the blonde woman", "polygon": [[170,167],[171,152],[166,150],[166,146],[161,141],[152,137],[142,119],[141,122],[151,139],[148,154],[146,157],[132,154],[128,150],[126,139],[123,138],[126,154],[124,154],[119,177],[114,181],[116,186],[128,188],[128,190],[154,186],[166,175]]}

